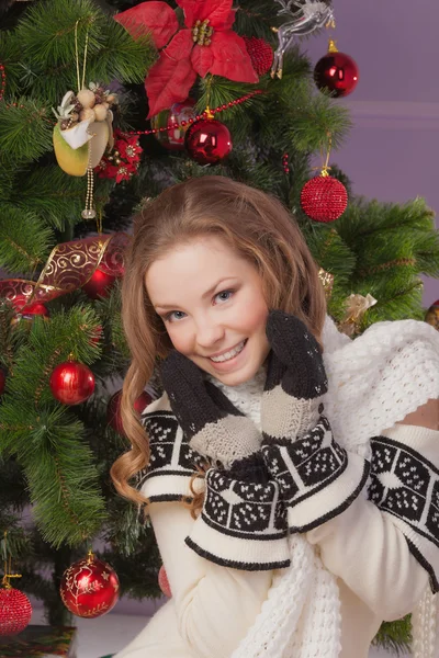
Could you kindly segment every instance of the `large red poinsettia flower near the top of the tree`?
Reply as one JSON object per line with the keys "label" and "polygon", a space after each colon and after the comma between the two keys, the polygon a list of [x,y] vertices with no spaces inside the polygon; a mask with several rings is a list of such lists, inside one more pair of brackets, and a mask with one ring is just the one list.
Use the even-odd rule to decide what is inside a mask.
{"label": "large red poinsettia flower near the top of the tree", "polygon": [[184,27],[166,2],[149,0],[121,12],[116,21],[133,37],[150,32],[157,48],[165,46],[145,80],[148,118],[185,101],[196,75],[223,76],[236,82],[258,82],[246,44],[232,30],[233,0],[177,0]]}

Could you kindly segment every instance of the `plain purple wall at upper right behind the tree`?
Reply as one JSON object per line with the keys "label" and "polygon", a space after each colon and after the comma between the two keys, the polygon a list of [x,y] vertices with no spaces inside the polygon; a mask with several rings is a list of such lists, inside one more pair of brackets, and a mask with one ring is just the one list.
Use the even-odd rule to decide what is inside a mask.
{"label": "plain purple wall at upper right behind the tree", "polygon": [[[439,2],[414,9],[407,0],[334,0],[336,30],[302,45],[314,64],[334,33],[338,49],[359,66],[357,89],[337,101],[354,126],[331,157],[353,192],[397,203],[424,196],[439,214]],[[437,298],[439,280],[426,277],[425,306]]]}

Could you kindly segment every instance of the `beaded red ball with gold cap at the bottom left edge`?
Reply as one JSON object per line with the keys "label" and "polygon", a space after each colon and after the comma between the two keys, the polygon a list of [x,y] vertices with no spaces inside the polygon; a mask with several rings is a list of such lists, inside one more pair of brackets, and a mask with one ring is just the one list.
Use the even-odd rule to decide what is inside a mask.
{"label": "beaded red ball with gold cap at the bottom left edge", "polygon": [[[4,532],[4,551],[7,552],[7,536]],[[29,625],[32,617],[32,605],[26,594],[14,589],[11,578],[21,578],[20,574],[12,574],[11,559],[4,559],[4,574],[0,588],[0,636],[18,635]]]}

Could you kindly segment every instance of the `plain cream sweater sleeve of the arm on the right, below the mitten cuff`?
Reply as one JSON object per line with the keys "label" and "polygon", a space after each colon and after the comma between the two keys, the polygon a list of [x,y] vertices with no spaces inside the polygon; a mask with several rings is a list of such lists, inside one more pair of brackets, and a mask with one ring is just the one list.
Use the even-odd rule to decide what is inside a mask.
{"label": "plain cream sweater sleeve of the arm on the right, below the mitten cuff", "polygon": [[[407,433],[395,426],[392,436]],[[437,440],[439,431],[413,428],[416,439]],[[435,436],[432,436],[435,434]],[[428,587],[429,576],[410,553],[395,518],[360,496],[340,515],[308,533],[324,565],[381,619],[392,621],[412,612]]]}

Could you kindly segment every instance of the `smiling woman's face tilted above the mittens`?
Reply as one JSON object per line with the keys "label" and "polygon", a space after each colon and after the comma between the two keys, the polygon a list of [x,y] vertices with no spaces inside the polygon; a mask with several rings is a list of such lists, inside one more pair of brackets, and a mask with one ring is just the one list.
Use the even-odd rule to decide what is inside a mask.
{"label": "smiling woman's face tilted above the mittens", "polygon": [[228,386],[255,376],[270,345],[252,264],[221,238],[203,236],[155,261],[145,284],[176,350]]}

